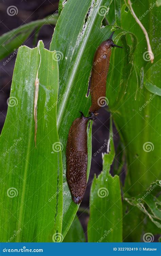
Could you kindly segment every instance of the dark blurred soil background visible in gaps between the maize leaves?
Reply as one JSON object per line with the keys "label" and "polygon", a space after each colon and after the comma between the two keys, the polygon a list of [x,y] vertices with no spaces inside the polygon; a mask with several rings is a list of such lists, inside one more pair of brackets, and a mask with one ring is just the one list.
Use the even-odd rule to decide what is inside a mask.
{"label": "dark blurred soil background visible in gaps between the maize leaves", "polygon": [[[42,19],[50,14],[53,14],[58,9],[58,0],[1,0],[0,2],[0,33],[6,33],[20,25],[27,24],[30,21]],[[15,5],[18,8],[18,14],[15,16],[7,15],[7,7],[10,5]],[[52,35],[54,32],[54,26],[47,25],[40,29],[38,40],[42,40],[45,48],[49,49]],[[24,43],[29,47],[33,47],[34,33],[30,38]],[[36,43],[37,43],[36,42]],[[3,65],[8,56],[0,62],[0,129],[2,130],[6,113],[7,113],[7,99],[10,96],[12,75],[15,65],[16,56],[11,59],[6,65]],[[81,208],[89,207],[89,195],[90,187],[93,180],[94,174],[99,175],[102,171],[102,153],[106,152],[107,147],[94,156],[94,153],[99,150],[104,145],[104,140],[108,140],[109,136],[109,112],[107,108],[102,108],[100,110],[101,115],[98,116],[97,120],[93,123],[93,133],[92,133],[92,162],[90,176],[88,180],[87,190],[83,198]],[[114,144],[118,145],[120,139],[115,127],[114,131]],[[113,174],[113,168],[111,170]],[[122,173],[123,174],[123,173]],[[124,174],[122,175],[124,177]],[[79,219],[83,225],[84,231],[87,230],[87,223],[89,216],[85,212],[78,212]]]}

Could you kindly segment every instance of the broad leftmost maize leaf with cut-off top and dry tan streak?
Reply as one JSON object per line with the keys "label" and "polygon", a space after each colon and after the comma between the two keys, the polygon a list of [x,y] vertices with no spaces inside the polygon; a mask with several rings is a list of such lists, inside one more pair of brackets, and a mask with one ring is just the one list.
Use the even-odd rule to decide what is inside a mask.
{"label": "broad leftmost maize leaf with cut-off top and dry tan streak", "polygon": [[53,54],[42,41],[34,49],[21,46],[18,51],[0,137],[1,242],[61,239],[62,145],[56,127],[58,63]]}

